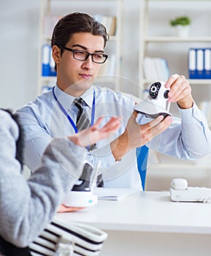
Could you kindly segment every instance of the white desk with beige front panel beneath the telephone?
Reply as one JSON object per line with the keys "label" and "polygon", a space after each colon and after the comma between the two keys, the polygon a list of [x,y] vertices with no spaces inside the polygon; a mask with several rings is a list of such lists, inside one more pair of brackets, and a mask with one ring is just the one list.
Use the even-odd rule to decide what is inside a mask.
{"label": "white desk with beige front panel beneath the telephone", "polygon": [[211,255],[211,204],[175,203],[169,192],[138,192],[56,218],[105,230],[101,256]]}

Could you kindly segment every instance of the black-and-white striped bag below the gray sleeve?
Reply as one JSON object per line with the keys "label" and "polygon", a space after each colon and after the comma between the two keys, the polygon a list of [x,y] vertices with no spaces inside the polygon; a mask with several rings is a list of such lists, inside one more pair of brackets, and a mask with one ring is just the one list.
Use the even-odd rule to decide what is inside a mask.
{"label": "black-and-white striped bag below the gray sleeve", "polygon": [[29,248],[32,256],[95,256],[106,238],[107,233],[96,227],[54,219]]}

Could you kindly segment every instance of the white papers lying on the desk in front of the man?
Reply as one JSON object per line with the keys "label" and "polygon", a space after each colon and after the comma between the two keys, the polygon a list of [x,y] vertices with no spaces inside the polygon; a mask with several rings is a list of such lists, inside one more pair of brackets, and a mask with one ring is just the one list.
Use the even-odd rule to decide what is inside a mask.
{"label": "white papers lying on the desk in front of the man", "polygon": [[140,191],[140,189],[95,187],[93,189],[93,195],[97,195],[99,200],[122,200],[124,197],[128,197]]}

